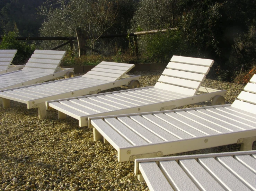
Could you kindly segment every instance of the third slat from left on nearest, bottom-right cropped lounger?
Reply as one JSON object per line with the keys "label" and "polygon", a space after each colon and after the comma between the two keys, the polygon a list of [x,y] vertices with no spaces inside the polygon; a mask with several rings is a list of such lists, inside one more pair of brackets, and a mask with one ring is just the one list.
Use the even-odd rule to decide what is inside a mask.
{"label": "third slat from left on nearest, bottom-right cropped lounger", "polygon": [[195,159],[179,160],[179,165],[200,190],[224,191],[220,184]]}

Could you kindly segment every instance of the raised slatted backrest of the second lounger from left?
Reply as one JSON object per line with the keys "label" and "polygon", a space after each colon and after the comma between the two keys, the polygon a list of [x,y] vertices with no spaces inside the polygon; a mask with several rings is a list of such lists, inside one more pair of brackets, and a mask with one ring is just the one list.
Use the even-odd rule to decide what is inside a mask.
{"label": "raised slatted backrest of the second lounger from left", "polygon": [[66,51],[35,50],[23,71],[54,73],[64,58]]}

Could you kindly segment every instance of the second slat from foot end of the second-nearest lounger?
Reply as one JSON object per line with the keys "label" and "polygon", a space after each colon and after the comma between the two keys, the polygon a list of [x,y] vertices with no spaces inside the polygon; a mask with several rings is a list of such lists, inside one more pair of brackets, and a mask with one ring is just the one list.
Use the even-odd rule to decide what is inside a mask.
{"label": "second slat from foot end of the second-nearest lounger", "polygon": [[146,145],[148,144],[143,138],[141,138],[138,134],[133,132],[131,129],[127,128],[123,123],[118,121],[116,118],[106,118],[104,121],[116,132],[122,135],[128,142],[132,145]]}

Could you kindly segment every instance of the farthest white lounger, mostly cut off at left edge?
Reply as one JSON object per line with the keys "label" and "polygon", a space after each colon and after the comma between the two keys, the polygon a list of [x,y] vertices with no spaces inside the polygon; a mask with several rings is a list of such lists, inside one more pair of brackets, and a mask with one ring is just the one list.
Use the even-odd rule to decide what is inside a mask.
{"label": "farthest white lounger, mostly cut off at left edge", "polygon": [[11,65],[17,50],[0,50],[0,74],[21,70],[24,65]]}

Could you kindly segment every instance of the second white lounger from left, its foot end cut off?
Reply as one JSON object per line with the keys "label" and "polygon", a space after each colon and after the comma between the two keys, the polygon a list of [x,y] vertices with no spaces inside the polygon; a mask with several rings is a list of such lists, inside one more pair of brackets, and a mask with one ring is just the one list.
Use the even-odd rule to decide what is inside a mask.
{"label": "second white lounger from left, its foot end cut off", "polygon": [[66,51],[35,50],[21,70],[0,74],[0,90],[41,83],[60,76],[69,76],[73,68],[60,68]]}

